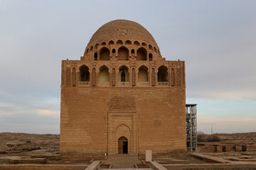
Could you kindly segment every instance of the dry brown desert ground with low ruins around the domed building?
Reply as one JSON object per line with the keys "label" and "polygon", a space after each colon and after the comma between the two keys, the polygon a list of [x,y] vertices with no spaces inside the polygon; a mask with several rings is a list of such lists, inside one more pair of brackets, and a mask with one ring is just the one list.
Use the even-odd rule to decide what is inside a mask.
{"label": "dry brown desert ground with low ruins around the domed building", "polygon": [[[154,155],[153,159],[167,169],[172,169],[173,165],[187,165],[187,168],[209,164],[256,166],[251,165],[256,163],[256,133],[197,135],[197,139],[197,152]],[[114,157],[112,159],[113,162],[118,161]],[[112,159],[102,158],[105,167],[114,165]],[[93,160],[61,157],[59,135],[0,133],[0,165],[90,165]],[[144,155],[138,160],[134,167],[149,167],[144,162]]]}

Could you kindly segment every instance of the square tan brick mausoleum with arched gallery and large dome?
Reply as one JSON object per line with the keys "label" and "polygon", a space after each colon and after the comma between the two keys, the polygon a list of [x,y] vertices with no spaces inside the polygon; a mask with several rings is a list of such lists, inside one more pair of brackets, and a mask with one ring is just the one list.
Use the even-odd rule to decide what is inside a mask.
{"label": "square tan brick mausoleum with arched gallery and large dome", "polygon": [[102,25],[62,61],[60,116],[62,155],[185,151],[185,62],[165,61],[142,25]]}

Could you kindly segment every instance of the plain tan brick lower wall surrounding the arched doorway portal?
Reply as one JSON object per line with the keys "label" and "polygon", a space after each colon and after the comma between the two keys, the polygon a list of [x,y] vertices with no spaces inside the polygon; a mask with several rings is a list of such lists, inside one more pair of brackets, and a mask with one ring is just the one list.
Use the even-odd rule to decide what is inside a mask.
{"label": "plain tan brick lower wall surrounding the arched doorway portal", "polygon": [[[62,87],[62,154],[103,155],[108,152],[108,104],[115,96],[132,97],[134,100],[133,125],[128,118],[126,121],[131,122],[130,125],[126,124],[136,131],[133,137],[137,140],[133,143],[137,144],[130,143],[137,147],[134,152],[144,153],[144,150],[152,149],[154,153],[165,153],[186,149],[184,87]],[[123,115],[123,112],[127,114],[129,111],[124,108],[115,112],[117,115]],[[125,120],[124,123],[120,120],[120,124],[125,124]],[[117,148],[115,150],[117,151]]]}

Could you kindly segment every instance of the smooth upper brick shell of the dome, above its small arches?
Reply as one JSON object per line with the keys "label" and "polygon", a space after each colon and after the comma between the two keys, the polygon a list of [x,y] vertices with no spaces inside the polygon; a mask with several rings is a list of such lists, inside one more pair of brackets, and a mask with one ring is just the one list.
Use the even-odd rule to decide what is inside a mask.
{"label": "smooth upper brick shell of the dome, above its small arches", "polygon": [[102,25],[92,35],[86,49],[92,48],[95,45],[110,45],[118,42],[122,42],[123,45],[127,42],[129,44],[147,45],[159,50],[154,37],[144,26],[129,20],[113,20]]}

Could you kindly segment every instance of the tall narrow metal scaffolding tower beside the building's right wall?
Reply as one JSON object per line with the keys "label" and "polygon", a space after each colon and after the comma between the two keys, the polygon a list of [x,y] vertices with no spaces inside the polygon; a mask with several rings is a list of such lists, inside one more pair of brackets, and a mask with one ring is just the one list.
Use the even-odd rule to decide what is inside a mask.
{"label": "tall narrow metal scaffolding tower beside the building's right wall", "polygon": [[197,151],[197,104],[186,105],[187,151]]}

